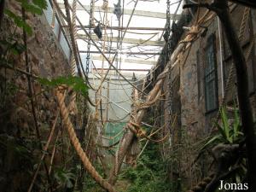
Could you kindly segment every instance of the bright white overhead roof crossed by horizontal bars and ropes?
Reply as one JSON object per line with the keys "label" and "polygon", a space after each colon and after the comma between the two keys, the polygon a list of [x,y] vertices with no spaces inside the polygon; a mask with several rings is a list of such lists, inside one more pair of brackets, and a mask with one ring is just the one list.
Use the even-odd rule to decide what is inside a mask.
{"label": "bright white overhead roof crossed by horizontal bars and ropes", "polygon": [[[76,3],[77,2],[77,3]],[[180,4],[182,1],[176,1],[172,4]],[[166,19],[165,13],[160,12],[149,12],[149,11],[143,11],[143,10],[137,10],[137,3],[136,1],[133,5],[133,9],[125,9],[125,1],[119,1],[118,3],[122,6],[119,6],[119,26],[112,26],[112,21],[108,20],[108,16],[105,15],[106,13],[110,12],[110,14],[113,14],[113,11],[116,11],[116,8],[110,8],[108,7],[108,2],[103,1],[102,7],[95,6],[94,0],[90,1],[90,5],[86,5],[84,3],[81,3],[80,1],[75,1],[76,4],[69,4],[67,1],[61,2],[53,0],[52,4],[55,8],[56,16],[61,20],[61,28],[63,30],[63,33],[68,39],[68,44],[72,48],[72,57],[73,57],[73,64],[76,64],[78,73],[81,77],[84,77],[87,82],[89,83],[89,76],[90,76],[90,88],[93,88],[93,90],[96,90],[96,93],[98,96],[96,96],[95,103],[91,102],[94,106],[96,106],[96,113],[98,111],[97,106],[99,103],[102,102],[102,89],[106,89],[106,87],[103,86],[104,83],[110,83],[112,84],[113,81],[108,78],[108,76],[113,73],[108,74],[109,72],[114,71],[116,75],[116,79],[119,79],[119,82],[116,84],[120,85],[119,90],[124,90],[125,95],[129,96],[129,99],[131,99],[131,94],[128,94],[125,90],[125,84],[130,84],[131,88],[137,89],[139,92],[144,93],[143,90],[139,90],[134,83],[131,82],[131,80],[127,79],[125,76],[125,72],[143,72],[147,73],[149,69],[152,67],[154,68],[154,65],[156,61],[150,60],[151,57],[154,57],[155,55],[160,55],[160,48],[164,45],[164,41],[159,37],[159,32],[165,32],[166,27],[154,27],[152,26],[131,26],[131,20],[132,18],[136,16],[143,16],[143,17],[149,17],[149,18],[160,18],[160,19]],[[126,3],[128,4],[128,3]],[[107,5],[107,6],[106,6]],[[105,6],[105,7],[104,7]],[[69,25],[68,18],[71,18],[71,15],[67,13],[67,9],[69,9],[70,12],[72,12],[72,22],[70,22],[72,25]],[[76,9],[76,10],[74,10]],[[83,15],[86,15],[86,17],[89,18],[89,23],[84,23],[84,20],[79,19],[79,15],[76,16],[77,11],[83,11]],[[102,12],[103,12],[103,18],[102,18]],[[100,20],[97,19],[95,16],[96,14],[100,14]],[[107,14],[108,15],[108,14]],[[129,15],[129,20],[127,22],[127,25],[124,26],[124,15]],[[118,16],[118,15],[117,15]],[[61,18],[61,19],[60,19]],[[177,11],[175,14],[170,14],[169,20],[172,19],[178,19],[179,15],[177,15]],[[111,18],[113,19],[113,18]],[[84,24],[85,25],[84,25]],[[96,24],[100,24],[102,26],[102,38],[98,38],[94,32],[91,32],[93,28],[96,27]],[[76,26],[75,26],[76,25]],[[69,29],[73,29],[70,32]],[[109,33],[110,31],[110,33]],[[113,37],[113,31],[118,31],[118,36]],[[74,33],[74,34],[73,34]],[[136,34],[140,35],[142,38],[125,38],[125,34]],[[148,37],[149,38],[143,38]],[[152,38],[157,37],[159,39],[152,40]],[[79,39],[82,39],[87,44],[87,49],[79,49]],[[116,47],[113,46],[113,42],[116,42]],[[93,46],[92,49],[90,49],[90,44]],[[126,46],[123,46],[125,44]],[[128,46],[128,45],[129,46]],[[147,49],[147,46],[150,47],[150,49]],[[155,47],[155,48],[154,48]],[[137,51],[133,51],[134,48],[137,48]],[[155,51],[156,50],[156,51]],[[86,54],[86,60],[85,60],[85,68],[81,61],[81,54]],[[108,56],[107,56],[108,55]],[[132,58],[122,58],[122,55],[127,55],[129,57],[138,57],[138,59],[132,59]],[[143,57],[143,58],[142,58]],[[76,61],[76,62],[74,62]],[[102,61],[102,67],[99,67],[95,65],[96,61]],[[107,66],[106,67],[106,62]],[[91,65],[92,62],[92,65]],[[116,62],[114,64],[114,62]],[[147,68],[140,68],[140,67],[125,67],[125,64],[127,63],[137,63],[137,64],[143,64],[148,66]],[[73,65],[74,66],[74,65]],[[90,68],[90,73],[89,73]],[[83,73],[82,73],[83,72]],[[151,70],[150,73],[152,73],[153,70]],[[100,80],[100,84],[96,86],[95,82],[91,81],[91,74],[92,77]],[[148,75],[150,75],[150,73]],[[94,79],[93,78],[93,79]],[[145,77],[146,78],[146,77]],[[145,79],[143,78],[143,79]],[[124,79],[126,82],[122,82],[121,79]],[[138,79],[137,82],[143,79]],[[99,94],[98,94],[99,92]],[[147,95],[147,94],[145,94]],[[100,99],[99,99],[100,98]],[[105,98],[106,99],[106,98]],[[109,100],[109,98],[107,99]],[[114,102],[111,102],[114,103]],[[127,109],[125,109],[127,110]],[[101,110],[102,112],[102,110]],[[101,121],[107,121],[108,119],[101,119]]]}

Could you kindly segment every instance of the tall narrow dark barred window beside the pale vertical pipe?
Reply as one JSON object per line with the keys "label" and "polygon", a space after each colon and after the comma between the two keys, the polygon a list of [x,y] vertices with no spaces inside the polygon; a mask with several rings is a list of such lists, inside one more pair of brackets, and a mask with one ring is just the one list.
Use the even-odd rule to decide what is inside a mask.
{"label": "tall narrow dark barred window beside the pale vertical pipe", "polygon": [[218,108],[218,74],[216,64],[215,36],[212,34],[207,39],[205,66],[205,101],[206,112],[211,112]]}

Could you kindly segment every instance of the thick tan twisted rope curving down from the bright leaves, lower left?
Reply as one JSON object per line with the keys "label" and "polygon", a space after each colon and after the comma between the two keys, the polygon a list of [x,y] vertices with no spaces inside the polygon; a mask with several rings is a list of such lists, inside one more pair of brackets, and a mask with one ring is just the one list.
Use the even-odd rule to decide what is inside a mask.
{"label": "thick tan twisted rope curving down from the bright leaves, lower left", "polygon": [[56,91],[57,101],[59,103],[60,109],[61,109],[61,116],[63,118],[64,125],[67,128],[67,132],[69,135],[69,138],[73,144],[73,147],[75,148],[76,152],[79,154],[80,160],[82,160],[84,164],[84,168],[87,170],[87,172],[90,173],[91,177],[93,177],[96,181],[96,183],[99,183],[103,189],[107,189],[108,192],[116,192],[115,189],[113,189],[113,186],[109,184],[107,181],[105,181],[98,172],[96,172],[96,169],[92,164],[90,163],[89,158],[84,153],[83,148],[81,147],[81,144],[79,143],[79,139],[76,136],[76,133],[73,129],[73,124],[71,123],[69,117],[68,117],[68,110],[64,103],[64,95],[61,93],[60,90]]}

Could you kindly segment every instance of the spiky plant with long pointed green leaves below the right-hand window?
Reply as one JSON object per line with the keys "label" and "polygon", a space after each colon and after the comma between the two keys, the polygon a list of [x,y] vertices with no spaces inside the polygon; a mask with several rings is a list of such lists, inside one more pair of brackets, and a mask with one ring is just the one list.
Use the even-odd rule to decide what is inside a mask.
{"label": "spiky plant with long pointed green leaves below the right-hand window", "polygon": [[215,146],[218,143],[232,144],[241,141],[243,133],[241,132],[240,117],[236,106],[234,109],[234,119],[230,122],[226,108],[221,108],[221,123],[215,123],[215,126],[218,128],[218,134],[210,137],[201,149]]}

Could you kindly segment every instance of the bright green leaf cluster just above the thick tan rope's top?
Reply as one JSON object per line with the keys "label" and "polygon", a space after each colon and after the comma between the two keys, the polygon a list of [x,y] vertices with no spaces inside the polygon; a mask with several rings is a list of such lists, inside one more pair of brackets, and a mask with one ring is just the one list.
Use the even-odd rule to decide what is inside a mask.
{"label": "bright green leaf cluster just above the thick tan rope's top", "polygon": [[88,96],[88,86],[84,84],[84,80],[79,77],[58,77],[56,79],[38,79],[41,84],[49,87],[56,87],[61,84],[66,84],[73,88],[74,91],[79,92],[82,96]]}

